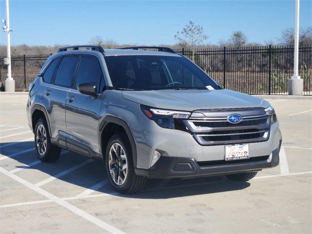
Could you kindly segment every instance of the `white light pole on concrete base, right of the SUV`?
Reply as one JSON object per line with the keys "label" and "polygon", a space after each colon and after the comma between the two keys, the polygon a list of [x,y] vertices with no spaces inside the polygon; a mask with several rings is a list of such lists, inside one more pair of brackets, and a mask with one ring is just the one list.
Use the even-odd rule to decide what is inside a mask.
{"label": "white light pole on concrete base, right of the SUV", "polygon": [[302,95],[303,80],[298,76],[298,54],[299,54],[299,0],[295,0],[294,12],[294,57],[293,57],[293,76],[289,80],[289,95]]}

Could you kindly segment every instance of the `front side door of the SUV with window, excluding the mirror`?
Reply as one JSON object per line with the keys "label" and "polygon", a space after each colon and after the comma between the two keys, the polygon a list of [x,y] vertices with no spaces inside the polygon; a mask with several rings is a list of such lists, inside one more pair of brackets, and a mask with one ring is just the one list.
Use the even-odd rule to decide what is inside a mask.
{"label": "front side door of the SUV with window, excluding the mirror", "polygon": [[95,98],[79,93],[78,84],[84,82],[94,82],[97,92],[103,92],[103,72],[95,56],[82,56],[76,82],[66,99],[67,147],[84,155],[92,155],[93,152],[99,153],[99,112],[104,95]]}

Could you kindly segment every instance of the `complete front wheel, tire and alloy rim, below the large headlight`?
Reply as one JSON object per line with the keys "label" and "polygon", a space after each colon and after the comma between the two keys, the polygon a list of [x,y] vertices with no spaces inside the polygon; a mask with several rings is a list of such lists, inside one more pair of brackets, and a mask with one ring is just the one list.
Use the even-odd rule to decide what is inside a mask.
{"label": "complete front wheel, tire and alloy rim, below the large headlight", "polygon": [[106,171],[112,186],[122,194],[137,193],[146,182],[146,177],[134,171],[131,145],[128,137],[117,133],[106,148]]}

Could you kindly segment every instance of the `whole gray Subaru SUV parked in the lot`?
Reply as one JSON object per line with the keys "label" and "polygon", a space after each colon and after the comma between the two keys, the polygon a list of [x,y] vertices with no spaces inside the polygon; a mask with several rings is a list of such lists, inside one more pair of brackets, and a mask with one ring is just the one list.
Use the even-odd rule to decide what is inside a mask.
{"label": "whole gray Subaru SUV parked in the lot", "polygon": [[270,103],[222,89],[165,47],[60,48],[29,87],[27,117],[40,160],[61,149],[100,158],[120,193],[147,178],[247,181],[279,163]]}

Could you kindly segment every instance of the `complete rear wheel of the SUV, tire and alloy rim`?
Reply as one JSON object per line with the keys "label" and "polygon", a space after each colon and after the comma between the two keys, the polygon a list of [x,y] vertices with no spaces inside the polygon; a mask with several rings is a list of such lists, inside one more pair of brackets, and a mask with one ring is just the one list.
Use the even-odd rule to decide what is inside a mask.
{"label": "complete rear wheel of the SUV, tire and alloy rim", "polygon": [[61,149],[51,144],[47,122],[39,118],[35,127],[35,148],[38,158],[43,162],[55,162],[59,159]]}

